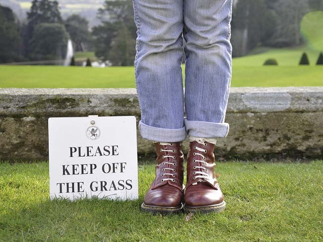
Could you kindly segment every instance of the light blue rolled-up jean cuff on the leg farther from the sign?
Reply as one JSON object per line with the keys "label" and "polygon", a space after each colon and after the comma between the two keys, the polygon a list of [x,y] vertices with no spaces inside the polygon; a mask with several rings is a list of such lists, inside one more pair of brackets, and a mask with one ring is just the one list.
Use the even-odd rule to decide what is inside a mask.
{"label": "light blue rolled-up jean cuff on the leg farther from the sign", "polygon": [[188,135],[201,138],[223,138],[229,132],[228,123],[188,121],[184,119],[184,126]]}

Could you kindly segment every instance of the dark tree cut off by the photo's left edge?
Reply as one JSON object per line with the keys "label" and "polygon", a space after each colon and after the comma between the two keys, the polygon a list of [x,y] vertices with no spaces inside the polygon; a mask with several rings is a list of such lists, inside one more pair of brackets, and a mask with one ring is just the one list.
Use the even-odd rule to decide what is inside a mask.
{"label": "dark tree cut off by the photo's left edge", "polygon": [[11,62],[20,41],[12,10],[0,5],[0,63]]}

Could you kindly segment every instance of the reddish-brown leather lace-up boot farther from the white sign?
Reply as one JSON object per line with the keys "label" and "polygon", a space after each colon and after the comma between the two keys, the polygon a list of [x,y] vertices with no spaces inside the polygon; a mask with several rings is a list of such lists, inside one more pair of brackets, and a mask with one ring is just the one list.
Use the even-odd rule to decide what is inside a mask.
{"label": "reddish-brown leather lace-up boot farther from the white sign", "polygon": [[188,213],[221,212],[226,207],[214,174],[214,144],[190,142],[184,210]]}

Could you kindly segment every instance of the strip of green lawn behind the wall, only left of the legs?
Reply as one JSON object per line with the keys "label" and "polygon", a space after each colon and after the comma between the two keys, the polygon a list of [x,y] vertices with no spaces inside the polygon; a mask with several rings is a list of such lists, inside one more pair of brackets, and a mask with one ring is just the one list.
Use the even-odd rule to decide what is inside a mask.
{"label": "strip of green lawn behind the wall, only left of the legs", "polygon": [[0,87],[135,87],[133,67],[0,66]]}

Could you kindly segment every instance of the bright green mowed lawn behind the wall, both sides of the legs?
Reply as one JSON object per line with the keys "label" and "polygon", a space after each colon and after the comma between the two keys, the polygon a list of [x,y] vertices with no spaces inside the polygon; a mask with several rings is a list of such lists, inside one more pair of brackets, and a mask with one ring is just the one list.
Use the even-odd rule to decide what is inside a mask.
{"label": "bright green mowed lawn behind the wall, both sides of the legs", "polygon": [[[257,51],[265,52],[256,54]],[[309,66],[298,65],[303,52],[308,54]],[[233,59],[231,86],[323,85],[323,65],[315,65],[320,54],[319,51],[302,47],[258,49],[254,53]],[[263,66],[262,64],[269,58],[276,59],[278,66]],[[134,67],[90,68],[0,65],[0,88],[134,88],[134,73]]]}

